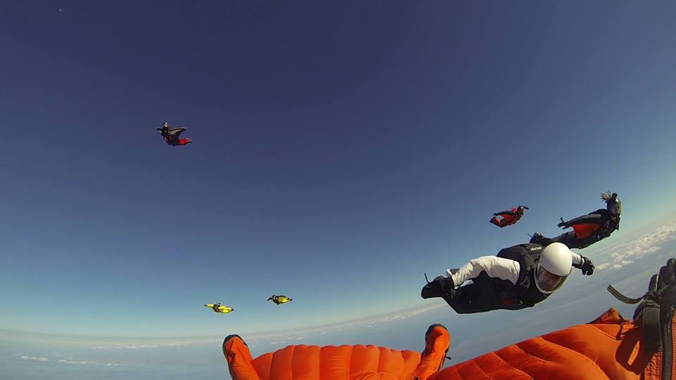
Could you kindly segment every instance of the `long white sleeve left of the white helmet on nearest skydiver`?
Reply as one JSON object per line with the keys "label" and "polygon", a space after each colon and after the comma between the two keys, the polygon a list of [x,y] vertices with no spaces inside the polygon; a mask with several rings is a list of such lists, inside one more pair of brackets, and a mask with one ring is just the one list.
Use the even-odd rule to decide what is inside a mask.
{"label": "long white sleeve left of the white helmet on nearest skydiver", "polygon": [[470,260],[470,262],[463,265],[455,274],[451,274],[451,270],[448,270],[447,272],[453,277],[453,284],[456,284],[456,286],[460,286],[468,279],[477,277],[481,272],[486,272],[488,277],[506,279],[516,285],[516,281],[519,279],[520,270],[521,266],[517,261],[499,258],[497,256],[482,256]]}

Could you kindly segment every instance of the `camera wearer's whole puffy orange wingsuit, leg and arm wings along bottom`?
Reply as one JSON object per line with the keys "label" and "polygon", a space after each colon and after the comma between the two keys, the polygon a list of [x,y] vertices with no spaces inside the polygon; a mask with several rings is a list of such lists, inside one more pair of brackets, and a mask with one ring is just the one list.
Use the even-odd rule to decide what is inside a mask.
{"label": "camera wearer's whole puffy orange wingsuit, leg and arm wings along bottom", "polygon": [[[432,331],[423,355],[375,346],[287,346],[253,360],[239,336],[226,338],[223,353],[234,380],[662,379],[662,351],[646,357],[641,328],[614,308],[589,324],[522,341],[440,372],[450,337],[442,327]],[[676,342],[676,319],[672,335]],[[672,367],[676,374],[676,361]]]}

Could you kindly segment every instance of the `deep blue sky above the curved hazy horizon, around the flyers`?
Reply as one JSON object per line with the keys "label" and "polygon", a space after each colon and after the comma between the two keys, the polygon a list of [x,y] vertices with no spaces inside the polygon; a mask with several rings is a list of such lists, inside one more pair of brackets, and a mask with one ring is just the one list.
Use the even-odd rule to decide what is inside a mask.
{"label": "deep blue sky above the curved hazy horizon, around the flyers", "polygon": [[[4,4],[0,328],[204,336],[424,308],[423,272],[558,233],[607,189],[609,248],[676,208],[675,13]],[[163,144],[164,120],[194,144]]]}

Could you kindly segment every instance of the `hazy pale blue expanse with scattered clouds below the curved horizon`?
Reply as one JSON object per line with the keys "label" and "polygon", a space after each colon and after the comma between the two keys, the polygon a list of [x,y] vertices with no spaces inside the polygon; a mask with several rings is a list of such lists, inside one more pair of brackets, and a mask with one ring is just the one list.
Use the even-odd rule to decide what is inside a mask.
{"label": "hazy pale blue expanse with scattered clouds below the curved horizon", "polygon": [[[430,301],[388,315],[329,326],[256,334],[230,331],[182,338],[104,338],[3,331],[0,379],[227,379],[220,350],[228,334],[240,334],[254,357],[292,344],[375,344],[422,350],[427,326],[442,323],[451,332],[456,364],[509,343],[595,319],[608,308],[631,318],[633,305],[619,303],[605,288],[613,284],[629,296],[646,290],[651,275],[676,257],[676,224],[661,224],[621,244],[594,249],[598,270],[575,273],[563,289],[536,307],[518,312],[456,315],[445,303]],[[590,251],[590,252],[591,252]]]}

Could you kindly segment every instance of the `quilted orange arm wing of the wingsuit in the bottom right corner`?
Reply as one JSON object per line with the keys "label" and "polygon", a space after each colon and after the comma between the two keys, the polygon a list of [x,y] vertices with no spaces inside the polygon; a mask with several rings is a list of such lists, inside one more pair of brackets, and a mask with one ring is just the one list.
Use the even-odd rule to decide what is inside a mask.
{"label": "quilted orange arm wing of the wingsuit in the bottom right corner", "polygon": [[[676,331],[674,321],[672,331]],[[660,380],[661,353],[646,357],[641,350],[641,337],[637,325],[622,319],[611,308],[589,324],[475,357],[437,372],[429,380]]]}

